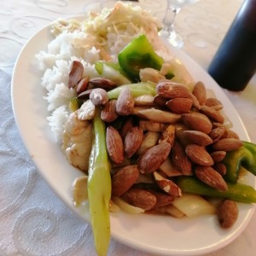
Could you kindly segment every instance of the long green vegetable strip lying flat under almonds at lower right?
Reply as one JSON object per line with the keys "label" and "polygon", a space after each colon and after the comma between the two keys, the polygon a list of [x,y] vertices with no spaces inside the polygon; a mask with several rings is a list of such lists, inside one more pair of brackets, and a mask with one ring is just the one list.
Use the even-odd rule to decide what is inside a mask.
{"label": "long green vegetable strip lying flat under almonds at lower right", "polygon": [[256,190],[253,187],[241,183],[227,183],[228,190],[218,191],[202,183],[196,177],[178,177],[177,185],[183,192],[210,197],[228,198],[245,203],[256,202]]}

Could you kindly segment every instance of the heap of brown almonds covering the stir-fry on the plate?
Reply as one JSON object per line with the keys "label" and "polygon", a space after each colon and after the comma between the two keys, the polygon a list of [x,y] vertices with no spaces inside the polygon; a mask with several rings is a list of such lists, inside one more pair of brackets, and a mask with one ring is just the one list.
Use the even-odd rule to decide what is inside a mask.
{"label": "heap of brown almonds covering the stir-fry on the plate", "polygon": [[[93,105],[102,108],[113,166],[113,196],[157,212],[182,195],[175,183],[177,176],[195,175],[214,189],[228,189],[222,160],[227,151],[242,143],[224,125],[223,104],[207,97],[203,83],[197,82],[190,92],[183,84],[160,79],[156,96],[134,97],[129,87],[124,87],[118,98],[111,100],[107,90],[116,84],[108,79],[84,82],[80,75],[70,86],[77,88],[79,98],[89,97]],[[219,216],[227,223],[224,212],[232,207],[225,205],[229,204],[220,207]],[[237,212],[236,206],[233,209],[231,215]]]}

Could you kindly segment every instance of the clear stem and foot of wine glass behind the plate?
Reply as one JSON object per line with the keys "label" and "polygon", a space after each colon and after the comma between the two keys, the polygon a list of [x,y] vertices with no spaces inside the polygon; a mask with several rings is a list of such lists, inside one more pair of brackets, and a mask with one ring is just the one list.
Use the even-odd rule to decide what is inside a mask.
{"label": "clear stem and foot of wine glass behind the plate", "polygon": [[183,47],[183,37],[178,34],[175,27],[177,14],[185,5],[189,5],[199,0],[167,0],[167,8],[163,19],[163,29],[160,32],[173,46]]}

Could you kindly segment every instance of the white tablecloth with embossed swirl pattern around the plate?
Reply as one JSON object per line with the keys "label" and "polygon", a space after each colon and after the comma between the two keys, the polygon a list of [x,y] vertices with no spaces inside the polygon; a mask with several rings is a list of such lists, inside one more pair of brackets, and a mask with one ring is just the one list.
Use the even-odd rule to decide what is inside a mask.
{"label": "white tablecloth with embossed swirl pattern around the plate", "polygon": [[[40,177],[15,125],[10,83],[17,55],[35,32],[59,17],[82,14],[86,0],[9,0],[0,9],[0,255],[96,255],[90,225],[77,217]],[[108,2],[108,1],[107,1]],[[166,1],[143,0],[162,17]],[[95,3],[95,2],[94,2]],[[100,3],[99,3],[100,4]],[[201,0],[177,15],[183,51],[207,70],[241,6],[240,0]],[[224,93],[234,103],[256,143],[256,78],[241,92]],[[241,236],[208,256],[254,255],[256,213]],[[111,241],[109,255],[149,255]]]}

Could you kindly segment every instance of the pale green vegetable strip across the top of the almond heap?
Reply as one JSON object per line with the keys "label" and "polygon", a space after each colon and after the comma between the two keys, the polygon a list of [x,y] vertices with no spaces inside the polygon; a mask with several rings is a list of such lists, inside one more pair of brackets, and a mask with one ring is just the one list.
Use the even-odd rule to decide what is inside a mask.
{"label": "pale green vegetable strip across the top of the almond heap", "polygon": [[121,85],[113,90],[108,91],[108,99],[117,99],[121,90],[124,88],[129,88],[131,90],[132,96],[143,96],[143,95],[156,95],[155,84],[154,83],[139,83],[139,84],[125,84]]}

